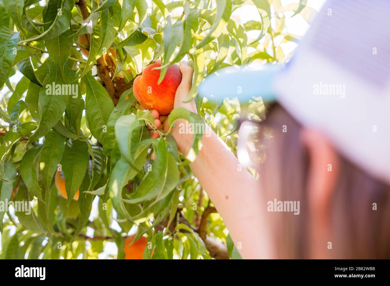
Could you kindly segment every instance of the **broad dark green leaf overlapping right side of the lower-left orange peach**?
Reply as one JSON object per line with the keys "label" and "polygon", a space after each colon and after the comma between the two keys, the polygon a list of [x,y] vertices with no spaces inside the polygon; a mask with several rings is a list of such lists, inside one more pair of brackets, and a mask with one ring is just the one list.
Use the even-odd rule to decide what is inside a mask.
{"label": "broad dark green leaf overlapping right side of the lower-left orange peach", "polygon": [[88,160],[89,153],[86,142],[71,139],[66,143],[61,165],[65,175],[68,205],[83,182]]}

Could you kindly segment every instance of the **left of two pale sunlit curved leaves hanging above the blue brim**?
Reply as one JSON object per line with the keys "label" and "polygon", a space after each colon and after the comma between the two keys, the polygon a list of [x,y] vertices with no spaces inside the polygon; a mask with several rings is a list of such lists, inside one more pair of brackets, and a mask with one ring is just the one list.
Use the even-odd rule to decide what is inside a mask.
{"label": "left of two pale sunlit curved leaves hanging above the blue brim", "polygon": [[230,15],[232,13],[232,4],[230,0],[216,0],[216,6],[217,11],[213,25],[211,25],[207,35],[199,42],[199,44],[196,45],[197,49],[208,44],[213,39],[218,38],[230,19]]}

